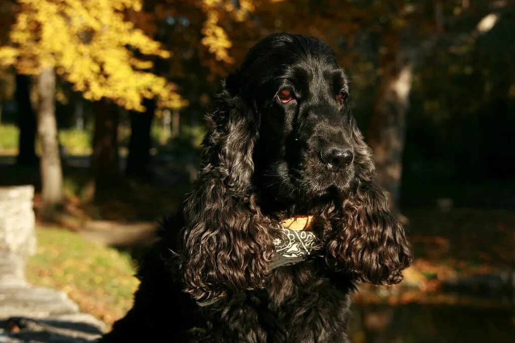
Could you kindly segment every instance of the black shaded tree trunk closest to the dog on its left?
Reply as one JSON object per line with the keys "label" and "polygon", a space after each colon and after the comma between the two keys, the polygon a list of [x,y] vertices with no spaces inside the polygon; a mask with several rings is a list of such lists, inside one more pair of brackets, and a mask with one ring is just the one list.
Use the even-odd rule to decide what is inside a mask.
{"label": "black shaded tree trunk closest to the dog on its left", "polygon": [[130,111],[131,135],[125,172],[133,177],[146,177],[150,165],[150,127],[156,111],[156,100],[145,99],[143,105],[146,107],[144,113]]}

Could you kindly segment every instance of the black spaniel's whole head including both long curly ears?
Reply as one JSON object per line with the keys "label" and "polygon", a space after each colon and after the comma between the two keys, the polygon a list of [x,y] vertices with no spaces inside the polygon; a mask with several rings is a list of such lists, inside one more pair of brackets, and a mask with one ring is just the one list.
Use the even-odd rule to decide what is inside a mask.
{"label": "black spaniel's whole head including both long curly ears", "polygon": [[356,280],[399,282],[409,245],[373,182],[332,49],[312,37],[270,35],[224,86],[184,209],[185,290],[208,299],[259,287],[278,213],[299,212],[315,214],[330,266]]}

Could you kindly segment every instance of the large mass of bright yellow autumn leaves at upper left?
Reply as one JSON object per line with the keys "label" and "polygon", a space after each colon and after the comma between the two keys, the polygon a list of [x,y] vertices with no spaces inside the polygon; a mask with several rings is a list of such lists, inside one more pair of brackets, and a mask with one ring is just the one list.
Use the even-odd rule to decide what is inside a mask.
{"label": "large mass of bright yellow autumn leaves at upper left", "polygon": [[0,64],[29,75],[55,67],[85,98],[110,98],[126,109],[143,111],[142,99],[153,97],[162,107],[185,105],[174,84],[149,71],[152,62],[135,56],[170,56],[125,20],[124,11],[141,10],[141,0],[19,0],[19,6]]}

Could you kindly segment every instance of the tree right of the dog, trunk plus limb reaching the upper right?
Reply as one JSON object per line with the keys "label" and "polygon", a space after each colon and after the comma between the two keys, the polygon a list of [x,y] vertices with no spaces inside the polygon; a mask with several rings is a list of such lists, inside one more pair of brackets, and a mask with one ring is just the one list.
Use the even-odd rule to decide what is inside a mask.
{"label": "tree right of the dog, trunk plus limb reaching the upper right", "polygon": [[[367,141],[374,151],[377,180],[390,193],[393,207],[400,202],[406,115],[414,69],[435,48],[475,44],[481,31],[491,29],[495,21],[488,28],[482,28],[481,23],[507,7],[507,3],[495,2],[471,6],[463,1],[431,4],[396,1],[382,11],[386,19],[381,29],[381,78]],[[464,18],[472,28],[464,30]]]}

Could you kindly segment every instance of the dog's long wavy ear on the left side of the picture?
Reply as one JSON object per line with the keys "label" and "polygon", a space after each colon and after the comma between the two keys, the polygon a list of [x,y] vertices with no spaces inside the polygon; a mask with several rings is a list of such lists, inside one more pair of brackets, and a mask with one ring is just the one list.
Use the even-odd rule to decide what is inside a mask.
{"label": "dog's long wavy ear on the left side of the picture", "polygon": [[259,118],[229,89],[224,83],[207,116],[202,168],[183,212],[179,269],[198,301],[259,287],[274,251],[251,185]]}

